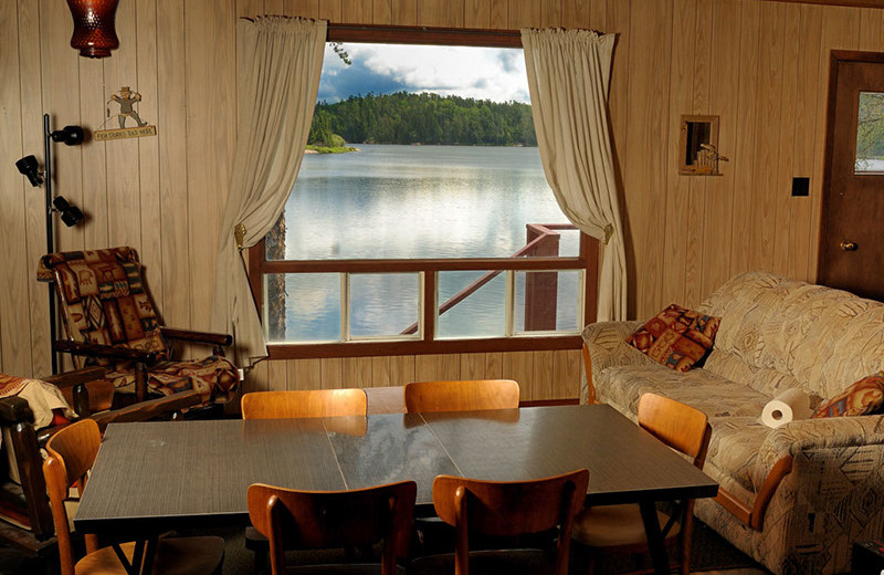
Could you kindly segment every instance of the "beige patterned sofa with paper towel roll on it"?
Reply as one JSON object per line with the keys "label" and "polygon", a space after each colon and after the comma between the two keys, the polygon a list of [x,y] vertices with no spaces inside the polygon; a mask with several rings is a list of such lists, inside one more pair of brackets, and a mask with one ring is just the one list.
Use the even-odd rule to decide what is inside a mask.
{"label": "beige patterned sofa with paper towel roll on it", "polygon": [[722,318],[702,367],[677,373],[625,343],[642,322],[588,326],[583,401],[635,419],[654,391],[702,409],[705,472],[720,484],[696,515],[779,575],[850,571],[851,544],[884,529],[884,416],[760,422],[798,387],[832,397],[884,368],[884,304],[762,272],[740,274],[698,312]]}

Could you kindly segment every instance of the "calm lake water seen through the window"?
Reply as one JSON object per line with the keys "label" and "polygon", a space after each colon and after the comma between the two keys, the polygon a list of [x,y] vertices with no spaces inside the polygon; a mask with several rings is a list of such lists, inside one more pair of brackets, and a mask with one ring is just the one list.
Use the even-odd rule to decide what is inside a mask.
{"label": "calm lake water seen through the window", "polygon": [[[526,243],[526,223],[567,223],[537,148],[358,146],[352,154],[305,155],[285,208],[290,260],[505,258]],[[579,234],[561,234],[561,255],[577,255]],[[439,274],[439,302],[483,272]],[[525,274],[516,274],[515,326],[524,325]],[[558,279],[557,328],[575,331],[581,284]],[[288,274],[285,334],[271,341],[340,338],[339,274]],[[350,276],[350,333],[392,336],[419,316],[417,274]],[[439,337],[505,333],[501,274],[441,315]]]}

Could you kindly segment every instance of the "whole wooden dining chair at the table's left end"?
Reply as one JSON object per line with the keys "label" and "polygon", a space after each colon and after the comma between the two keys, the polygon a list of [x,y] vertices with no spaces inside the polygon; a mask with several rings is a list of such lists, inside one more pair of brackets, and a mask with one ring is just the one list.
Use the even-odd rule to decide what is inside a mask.
{"label": "whole wooden dining chair at the table's left end", "polygon": [[[49,457],[43,462],[49,499],[52,504],[52,519],[59,540],[59,557],[62,575],[127,575],[127,569],[113,547],[98,548],[97,537],[86,535],[86,556],[74,564],[71,532],[65,502],[70,489],[77,487],[82,493],[102,438],[98,424],[84,419],[71,424],[56,432],[46,443]],[[148,545],[149,547],[149,545]],[[139,565],[143,545],[124,543],[119,545],[123,554]],[[144,555],[148,555],[145,553]],[[166,575],[210,575],[220,574],[224,560],[224,540],[221,537],[160,539],[151,562],[156,573]]]}

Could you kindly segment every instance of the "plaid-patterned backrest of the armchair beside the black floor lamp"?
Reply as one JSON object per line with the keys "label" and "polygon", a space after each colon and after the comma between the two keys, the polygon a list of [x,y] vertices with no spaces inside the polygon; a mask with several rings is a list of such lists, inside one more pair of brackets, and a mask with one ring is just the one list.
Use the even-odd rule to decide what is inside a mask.
{"label": "plaid-patterned backrest of the armchair beside the black floor lamp", "polygon": [[40,259],[38,279],[55,283],[72,341],[168,353],[134,249],[50,253]]}

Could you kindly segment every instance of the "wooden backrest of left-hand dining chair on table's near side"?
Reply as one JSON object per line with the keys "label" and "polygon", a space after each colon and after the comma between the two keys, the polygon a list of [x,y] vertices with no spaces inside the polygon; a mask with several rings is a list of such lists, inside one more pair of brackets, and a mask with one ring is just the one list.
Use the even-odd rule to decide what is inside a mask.
{"label": "wooden backrest of left-hand dining chair on table's near side", "polygon": [[297,491],[249,487],[249,516],[270,540],[271,571],[285,573],[285,548],[359,547],[383,542],[381,573],[396,573],[408,541],[418,485],[402,481],[354,491]]}

